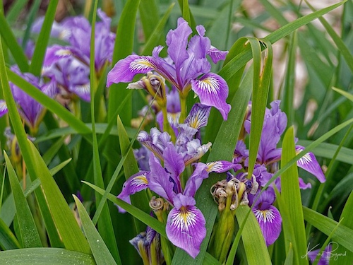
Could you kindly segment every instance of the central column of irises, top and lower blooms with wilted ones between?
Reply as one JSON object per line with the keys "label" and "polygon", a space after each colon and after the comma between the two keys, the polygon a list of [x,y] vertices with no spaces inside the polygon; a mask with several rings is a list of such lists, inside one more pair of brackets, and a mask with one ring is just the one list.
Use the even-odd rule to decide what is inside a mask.
{"label": "central column of irises, top and lower blooms with wilted ones between", "polygon": [[[107,76],[107,86],[112,83],[129,83],[138,73],[147,73],[128,88],[143,89],[158,103],[162,117],[157,117],[160,129],[152,128],[150,134],[141,131],[138,141],[148,150],[148,161],[139,159],[143,169],[129,177],[118,198],[130,203],[130,195],[149,189],[150,206],[157,218],[166,223],[167,237],[172,244],[184,249],[195,258],[206,235],[205,218],[196,207],[194,196],[203,179],[210,172],[226,172],[237,167],[232,162],[198,162],[209,150],[211,143],[201,143],[200,129],[206,126],[210,107],[216,107],[227,119],[228,86],[216,73],[211,73],[207,56],[217,63],[227,52],[220,51],[205,37],[203,25],[196,27],[197,35],[184,18],[179,18],[177,28],[169,30],[166,44],[168,57],[160,57],[162,46],[155,47],[152,56],[132,54],[118,61]],[[190,37],[190,38],[189,38]],[[166,82],[171,86],[167,92]],[[193,105],[186,117],[186,97],[193,90],[201,103]],[[147,148],[147,149],[146,149]],[[144,158],[147,158],[144,156]],[[162,200],[162,201],[161,201]],[[170,209],[171,208],[171,209]],[[119,211],[123,209],[119,208]],[[167,212],[164,220],[160,211]],[[142,255],[141,255],[142,256]]]}

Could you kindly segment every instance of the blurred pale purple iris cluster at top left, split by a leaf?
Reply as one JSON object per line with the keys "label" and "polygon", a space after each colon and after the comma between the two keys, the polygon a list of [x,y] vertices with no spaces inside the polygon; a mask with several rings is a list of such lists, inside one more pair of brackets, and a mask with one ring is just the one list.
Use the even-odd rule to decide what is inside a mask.
{"label": "blurred pale purple iris cluster at top left, split by a leaf", "polygon": [[[100,21],[95,24],[95,73],[100,77],[105,66],[112,61],[115,34],[110,31],[111,18],[97,11]],[[64,98],[90,101],[90,34],[87,18],[75,16],[56,23],[54,37],[69,45],[53,45],[44,59],[44,76],[55,76]]]}

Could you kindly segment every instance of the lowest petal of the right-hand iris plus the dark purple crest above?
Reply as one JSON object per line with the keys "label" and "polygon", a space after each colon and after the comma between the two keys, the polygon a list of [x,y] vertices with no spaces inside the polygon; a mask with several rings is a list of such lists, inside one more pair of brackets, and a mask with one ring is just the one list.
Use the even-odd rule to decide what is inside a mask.
{"label": "lowest petal of the right-hand iris plus the dark purple crest above", "polygon": [[[282,229],[282,217],[280,211],[273,206],[275,192],[272,187],[268,187],[259,197],[258,193],[249,195],[250,204],[254,204],[252,211],[258,220],[266,245],[272,245],[280,236]],[[256,199],[258,197],[258,199]],[[253,203],[253,199],[256,201]]]}

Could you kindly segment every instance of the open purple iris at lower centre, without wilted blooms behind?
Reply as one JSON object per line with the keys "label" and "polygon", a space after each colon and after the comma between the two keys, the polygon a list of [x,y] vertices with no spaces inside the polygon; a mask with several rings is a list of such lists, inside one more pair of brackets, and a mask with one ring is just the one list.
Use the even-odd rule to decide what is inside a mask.
{"label": "open purple iris at lower centre, without wilted blooms behind", "polygon": [[162,153],[164,166],[152,153],[149,160],[150,171],[140,171],[126,180],[118,198],[130,203],[131,194],[149,188],[168,201],[173,208],[167,218],[167,236],[174,245],[195,258],[200,251],[206,230],[205,218],[196,208],[193,196],[210,172],[225,172],[234,165],[227,161],[196,163],[193,174],[183,188],[179,178],[185,169],[183,155],[177,152],[170,141],[164,147]]}

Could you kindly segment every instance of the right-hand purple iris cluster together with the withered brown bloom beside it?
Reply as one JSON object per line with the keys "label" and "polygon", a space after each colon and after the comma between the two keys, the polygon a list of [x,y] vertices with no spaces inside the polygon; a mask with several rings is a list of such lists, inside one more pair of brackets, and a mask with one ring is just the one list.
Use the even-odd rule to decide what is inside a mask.
{"label": "right-hand purple iris cluster together with the withered brown bloom beside it", "polygon": [[[253,175],[251,177],[247,176],[249,150],[246,149],[244,139],[241,139],[237,142],[233,158],[233,163],[240,165],[241,170],[235,172],[234,175],[228,173],[227,179],[218,182],[211,189],[215,201],[219,204],[220,211],[223,211],[225,207],[230,207],[234,211],[239,204],[253,206],[252,211],[263,232],[266,245],[272,245],[281,232],[282,218],[280,212],[273,206],[275,188],[278,191],[281,190],[280,178],[275,179],[275,186],[270,186],[265,191],[262,191],[262,189],[278,170],[282,148],[277,148],[277,143],[287,127],[287,115],[280,110],[280,100],[275,100],[270,105],[271,109],[266,108],[265,110],[263,131]],[[251,133],[250,128],[251,103],[244,120],[244,137]],[[304,150],[304,147],[299,145],[295,148],[297,153]],[[297,161],[297,165],[310,172],[320,182],[325,182],[325,175],[313,153],[306,153]],[[232,203],[226,205],[224,197],[229,196],[229,193],[226,194],[226,187],[229,183],[231,183],[230,186],[234,192],[231,193],[233,196]],[[306,184],[303,179],[299,178],[299,187],[307,189],[311,187],[311,184]]]}

